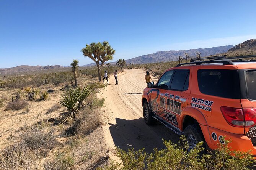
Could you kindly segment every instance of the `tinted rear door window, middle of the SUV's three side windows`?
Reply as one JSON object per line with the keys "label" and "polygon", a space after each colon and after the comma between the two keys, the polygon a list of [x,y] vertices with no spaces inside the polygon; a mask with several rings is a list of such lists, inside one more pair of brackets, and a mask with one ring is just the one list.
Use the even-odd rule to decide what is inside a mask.
{"label": "tinted rear door window, middle of the SUV's three side windows", "polygon": [[171,90],[186,91],[188,90],[189,70],[177,69],[171,82]]}

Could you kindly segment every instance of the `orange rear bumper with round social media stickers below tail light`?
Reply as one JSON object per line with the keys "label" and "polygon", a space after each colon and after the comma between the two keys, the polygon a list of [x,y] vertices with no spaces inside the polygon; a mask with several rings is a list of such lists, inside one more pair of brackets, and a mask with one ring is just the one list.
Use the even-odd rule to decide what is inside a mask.
{"label": "orange rear bumper with round social media stickers below tail light", "polygon": [[[243,151],[243,152],[247,152],[251,150],[251,154],[253,155],[254,159],[256,159],[256,147],[253,146],[251,140],[247,136],[225,132],[223,130],[219,130],[213,127],[207,127],[203,125],[200,125],[200,126],[204,133],[205,141],[207,142],[210,149],[217,149],[218,143],[223,143],[221,138],[225,137],[226,140],[231,141],[228,144],[228,146],[231,147],[232,150]],[[207,130],[208,130],[208,134],[205,134],[207,133]],[[210,140],[207,140],[208,136],[210,137]]]}

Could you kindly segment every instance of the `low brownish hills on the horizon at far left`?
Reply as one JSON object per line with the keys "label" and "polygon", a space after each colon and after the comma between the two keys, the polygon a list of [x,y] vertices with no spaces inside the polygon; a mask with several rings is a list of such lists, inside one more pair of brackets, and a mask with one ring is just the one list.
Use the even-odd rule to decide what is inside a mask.
{"label": "low brownish hills on the horizon at far left", "polygon": [[55,69],[55,68],[62,68],[62,66],[17,66],[8,69],[0,69],[0,75],[5,74],[13,74],[18,72],[29,72],[29,71],[39,71],[39,70],[46,70],[46,69]]}

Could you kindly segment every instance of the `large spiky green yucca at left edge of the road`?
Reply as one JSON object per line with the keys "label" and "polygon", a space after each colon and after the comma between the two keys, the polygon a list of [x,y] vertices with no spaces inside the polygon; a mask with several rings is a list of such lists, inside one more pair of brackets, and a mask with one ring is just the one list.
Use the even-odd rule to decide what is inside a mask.
{"label": "large spiky green yucca at left edge of the road", "polygon": [[60,97],[61,100],[57,102],[67,108],[68,114],[60,120],[60,123],[70,122],[71,120],[73,120],[75,115],[79,113],[83,101],[94,90],[95,87],[93,84],[85,85],[83,89],[78,86],[77,88],[69,88],[65,90],[63,92],[63,95]]}

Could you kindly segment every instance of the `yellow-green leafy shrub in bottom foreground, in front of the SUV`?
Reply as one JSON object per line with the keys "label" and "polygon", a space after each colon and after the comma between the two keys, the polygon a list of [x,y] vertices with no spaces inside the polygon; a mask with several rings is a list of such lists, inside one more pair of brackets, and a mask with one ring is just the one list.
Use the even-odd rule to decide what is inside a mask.
{"label": "yellow-green leafy shrub in bottom foreground, in front of the SUV", "polygon": [[111,164],[98,168],[99,170],[249,170],[248,166],[253,163],[251,151],[231,151],[228,147],[230,141],[225,140],[219,144],[218,149],[211,154],[203,154],[202,142],[190,152],[188,144],[181,138],[181,143],[174,144],[164,141],[166,149],[154,149],[154,152],[147,154],[144,149],[128,151],[117,149],[117,155],[122,160],[122,166]]}

